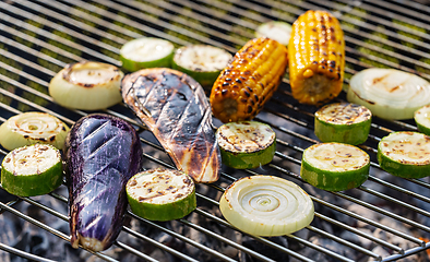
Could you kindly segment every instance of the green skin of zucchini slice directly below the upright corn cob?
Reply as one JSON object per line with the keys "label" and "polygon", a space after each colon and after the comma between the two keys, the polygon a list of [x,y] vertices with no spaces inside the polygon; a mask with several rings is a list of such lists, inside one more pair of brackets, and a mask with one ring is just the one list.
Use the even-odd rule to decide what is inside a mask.
{"label": "green skin of zucchini slice directly below the upright corn cob", "polygon": [[[347,110],[346,112],[350,112],[350,110],[354,110],[353,114],[363,114],[365,118],[367,119],[365,121],[351,120],[345,123],[325,121],[321,116],[323,114],[322,110],[324,110],[324,108],[332,108],[336,106],[344,108],[349,107],[349,110]],[[324,143],[338,142],[358,145],[367,141],[370,132],[371,122],[372,119],[370,110],[362,106],[347,103],[331,104],[315,112],[314,133],[319,138],[319,140]]]}

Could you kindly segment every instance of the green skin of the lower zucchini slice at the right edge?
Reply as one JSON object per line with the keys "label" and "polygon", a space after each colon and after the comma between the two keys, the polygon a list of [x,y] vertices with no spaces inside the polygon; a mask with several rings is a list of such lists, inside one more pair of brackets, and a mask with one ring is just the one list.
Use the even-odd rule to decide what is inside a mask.
{"label": "green skin of the lower zucchini slice at the right edge", "polygon": [[[419,134],[416,132],[394,132],[385,138],[389,138],[390,135],[396,135],[397,133],[410,133],[411,135]],[[430,138],[428,139],[430,140]],[[382,145],[384,142],[385,141],[383,138],[378,144],[378,162],[383,170],[401,178],[423,178],[430,176],[429,160],[422,164],[408,164],[406,160],[394,160],[383,153]]]}

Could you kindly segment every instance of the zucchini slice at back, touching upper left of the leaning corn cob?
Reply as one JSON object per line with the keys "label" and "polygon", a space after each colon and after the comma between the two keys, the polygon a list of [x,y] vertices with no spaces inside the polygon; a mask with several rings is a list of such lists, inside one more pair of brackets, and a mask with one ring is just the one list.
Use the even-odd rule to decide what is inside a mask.
{"label": "zucchini slice at back, touching upper left of the leaning corn cob", "polygon": [[172,68],[190,75],[206,92],[211,92],[215,80],[231,58],[231,53],[218,47],[191,45],[175,51]]}

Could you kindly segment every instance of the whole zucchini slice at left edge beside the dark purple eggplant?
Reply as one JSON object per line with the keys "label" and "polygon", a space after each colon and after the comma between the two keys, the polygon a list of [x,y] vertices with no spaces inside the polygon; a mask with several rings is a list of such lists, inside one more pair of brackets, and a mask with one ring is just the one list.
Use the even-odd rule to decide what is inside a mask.
{"label": "whole zucchini slice at left edge beside the dark purple eggplant", "polygon": [[61,154],[52,145],[34,144],[15,148],[1,164],[1,186],[14,195],[46,194],[61,183]]}

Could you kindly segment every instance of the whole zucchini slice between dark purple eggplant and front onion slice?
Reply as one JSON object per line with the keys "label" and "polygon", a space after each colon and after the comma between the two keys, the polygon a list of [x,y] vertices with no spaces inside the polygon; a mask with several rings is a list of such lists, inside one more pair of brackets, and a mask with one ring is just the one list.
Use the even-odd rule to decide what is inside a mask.
{"label": "whole zucchini slice between dark purple eggplant and front onion slice", "polygon": [[150,221],[172,221],[196,207],[195,186],[183,171],[156,168],[134,175],[126,186],[131,210]]}

